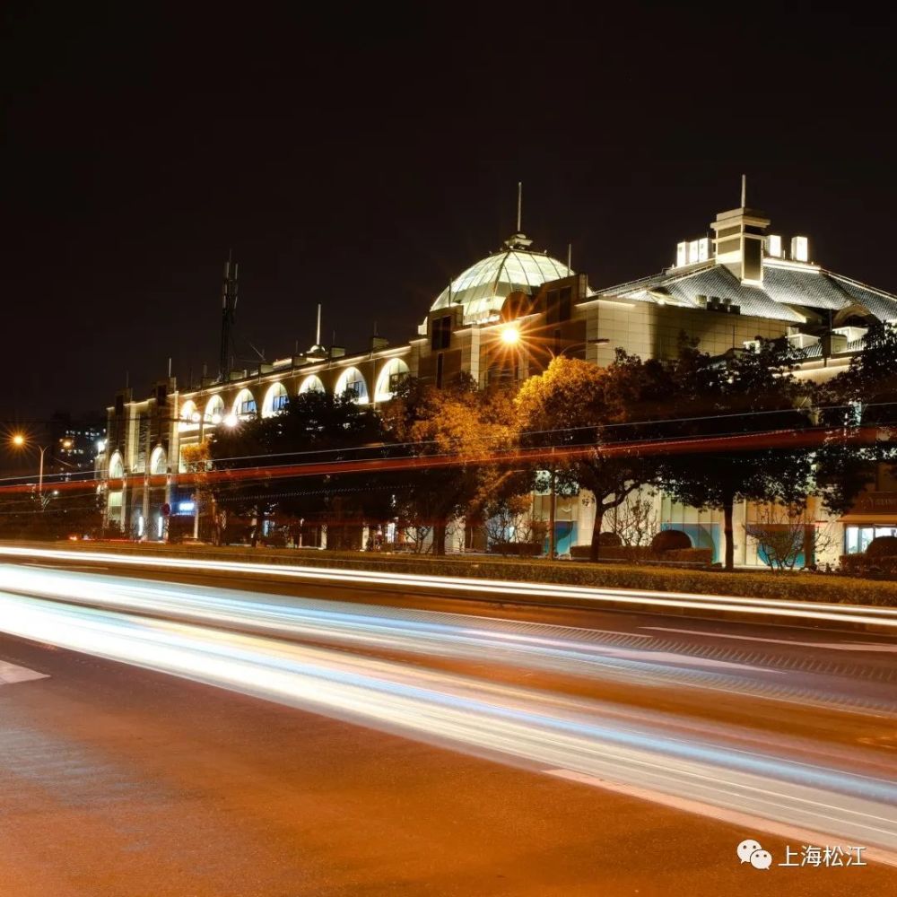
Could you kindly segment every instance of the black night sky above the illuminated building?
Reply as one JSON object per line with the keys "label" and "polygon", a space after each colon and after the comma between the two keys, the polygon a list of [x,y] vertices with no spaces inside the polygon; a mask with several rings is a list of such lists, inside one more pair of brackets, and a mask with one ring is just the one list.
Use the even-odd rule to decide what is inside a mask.
{"label": "black night sky above the illuminated building", "polygon": [[318,302],[326,342],[405,340],[509,235],[518,179],[593,286],[669,265],[745,171],[773,231],[897,292],[894,22],[868,7],[62,5],[3,13],[0,422],[99,410],[126,370],[144,396],[169,356],[216,370],[231,247],[269,358]]}

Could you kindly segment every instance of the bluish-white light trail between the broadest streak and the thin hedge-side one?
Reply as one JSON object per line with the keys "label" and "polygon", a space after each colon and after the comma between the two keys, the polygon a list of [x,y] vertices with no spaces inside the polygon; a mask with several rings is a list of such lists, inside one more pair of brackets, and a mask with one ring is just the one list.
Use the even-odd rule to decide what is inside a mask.
{"label": "bluish-white light trail between the broadest streak and the thin hedge-side one", "polygon": [[649,635],[621,637],[570,626],[21,566],[0,565],[0,581],[4,590],[30,597],[316,644],[476,663],[488,659],[546,673],[701,688],[897,718],[891,685],[661,649],[664,642]]}

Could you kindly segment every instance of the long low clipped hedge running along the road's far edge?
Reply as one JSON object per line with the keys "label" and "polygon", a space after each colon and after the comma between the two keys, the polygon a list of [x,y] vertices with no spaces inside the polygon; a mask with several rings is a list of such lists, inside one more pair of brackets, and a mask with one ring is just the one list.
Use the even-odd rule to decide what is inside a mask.
{"label": "long low clipped hedge running along the road's far edge", "polygon": [[435,558],[431,555],[388,552],[318,552],[301,549],[256,549],[211,546],[116,545],[65,543],[67,548],[90,551],[146,551],[157,554],[205,557],[214,560],[300,564],[309,567],[356,568],[416,573],[421,576],[456,576],[479,579],[511,579],[523,582],[560,583],[599,588],[635,588],[650,591],[693,592],[789,601],[823,601],[897,607],[897,582],[855,579],[824,573],[774,572],[772,570],[697,570],[681,567],[632,566],[623,563],[593,564],[518,560],[483,555]]}

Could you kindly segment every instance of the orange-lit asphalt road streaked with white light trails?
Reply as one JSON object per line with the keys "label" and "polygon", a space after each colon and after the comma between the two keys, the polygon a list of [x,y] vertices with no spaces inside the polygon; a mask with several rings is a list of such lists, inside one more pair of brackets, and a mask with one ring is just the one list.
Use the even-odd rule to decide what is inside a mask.
{"label": "orange-lit asphalt road streaked with white light trails", "polygon": [[[245,682],[216,688],[2,637],[0,663],[48,676],[3,684],[0,666],[4,895],[865,894],[897,886],[897,868],[873,861],[779,867],[787,847],[799,861],[808,840],[801,827],[773,820],[758,829],[739,818],[747,777],[760,774],[775,783],[777,801],[788,798],[788,812],[809,794],[800,789],[815,788],[832,800],[832,826],[875,806],[883,832],[897,825],[888,803],[897,645],[883,637],[136,567],[130,578],[115,570],[106,579],[109,570],[81,563],[62,577],[90,583],[79,597],[62,594],[47,566],[56,565],[0,568],[0,587],[15,570],[49,577],[30,585],[56,589],[65,604],[13,596],[32,604],[6,605],[0,628],[23,626],[21,611],[44,614],[35,620],[46,630],[32,635],[57,644],[79,627],[95,634],[114,623],[126,627],[125,646],[156,639],[153,650],[167,649],[160,639],[176,634],[184,651],[223,645],[225,657],[239,649],[247,664],[251,652],[274,652],[280,666],[301,661],[306,673],[315,664],[316,675],[387,683],[389,713],[425,686],[466,701],[465,716],[428,716],[429,705],[414,705],[405,718],[376,718],[376,690],[366,692],[368,706],[347,710],[315,705],[317,694],[274,695],[254,680],[257,694],[283,703],[261,700],[228,690],[248,691]],[[144,600],[128,588],[145,598],[161,579],[186,585],[167,590],[179,614],[110,604],[116,595]],[[327,597],[327,611],[315,597]],[[231,602],[228,619],[221,601]],[[54,614],[69,614],[58,638]],[[205,649],[187,644],[194,638]],[[131,662],[164,666],[156,655]],[[187,674],[200,675],[179,669]],[[289,675],[302,674],[291,667]],[[333,701],[343,699],[334,692]],[[488,715],[496,708],[505,718]],[[500,726],[532,726],[536,713],[537,729],[496,741]],[[568,736],[585,739],[570,726],[588,715],[606,729],[589,730],[589,744],[621,752],[612,757],[618,781],[613,770],[546,774],[548,747],[562,748],[563,760],[585,756]],[[563,745],[556,729],[536,737],[559,720]],[[693,764],[714,763],[735,806],[692,806],[684,793],[651,799],[658,783],[623,770],[646,752],[663,758],[663,775],[676,782]],[[760,761],[769,768],[758,770]],[[753,818],[770,806],[756,803]],[[771,851],[769,870],[738,862],[736,845],[748,837]],[[879,837],[884,844],[890,835]]]}

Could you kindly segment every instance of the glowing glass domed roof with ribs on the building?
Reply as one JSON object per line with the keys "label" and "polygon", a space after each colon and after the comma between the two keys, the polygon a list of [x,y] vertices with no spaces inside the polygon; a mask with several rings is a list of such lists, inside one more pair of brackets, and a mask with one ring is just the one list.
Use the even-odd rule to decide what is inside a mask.
{"label": "glowing glass domed roof with ribs on the building", "polygon": [[488,320],[499,313],[510,293],[532,295],[543,283],[573,274],[563,262],[530,249],[531,242],[522,233],[506,240],[505,248],[459,274],[440,292],[430,310],[463,305],[466,324]]}

